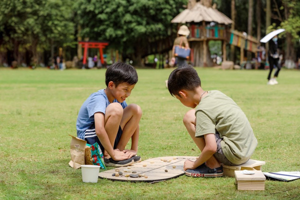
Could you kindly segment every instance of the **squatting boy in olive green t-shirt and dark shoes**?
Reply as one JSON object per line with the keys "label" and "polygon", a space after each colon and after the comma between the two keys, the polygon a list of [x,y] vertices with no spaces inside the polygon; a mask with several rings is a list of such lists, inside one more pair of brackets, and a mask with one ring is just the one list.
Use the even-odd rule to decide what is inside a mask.
{"label": "squatting boy in olive green t-shirt and dark shoes", "polygon": [[230,97],[218,90],[203,90],[190,65],[173,70],[167,86],[172,96],[193,108],[184,115],[183,123],[201,154],[195,161],[184,162],[186,175],[222,176],[220,163],[239,165],[250,158],[257,140],[247,117]]}

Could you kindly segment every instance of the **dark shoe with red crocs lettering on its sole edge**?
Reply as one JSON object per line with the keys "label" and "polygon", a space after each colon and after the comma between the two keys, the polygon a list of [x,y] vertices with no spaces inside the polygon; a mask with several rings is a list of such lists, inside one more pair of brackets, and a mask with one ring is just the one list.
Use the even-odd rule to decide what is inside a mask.
{"label": "dark shoe with red crocs lettering on its sole edge", "polygon": [[219,177],[223,176],[223,166],[209,168],[203,163],[195,169],[186,169],[185,175],[193,177]]}

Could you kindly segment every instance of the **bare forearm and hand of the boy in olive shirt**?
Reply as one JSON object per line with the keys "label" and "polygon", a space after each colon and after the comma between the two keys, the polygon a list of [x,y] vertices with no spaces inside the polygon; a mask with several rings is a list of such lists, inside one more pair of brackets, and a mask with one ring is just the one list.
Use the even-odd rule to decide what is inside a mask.
{"label": "bare forearm and hand of the boy in olive shirt", "polygon": [[200,156],[193,162],[186,160],[183,169],[194,169],[208,160],[216,151],[216,142],[214,133],[204,134],[205,146]]}

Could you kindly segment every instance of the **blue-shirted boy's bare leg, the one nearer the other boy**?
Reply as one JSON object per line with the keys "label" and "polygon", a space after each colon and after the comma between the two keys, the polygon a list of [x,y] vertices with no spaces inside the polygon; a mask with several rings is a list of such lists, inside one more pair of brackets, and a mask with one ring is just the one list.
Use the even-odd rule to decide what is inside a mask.
{"label": "blue-shirted boy's bare leg, the one nearer the other boy", "polygon": [[136,104],[129,104],[124,108],[123,116],[120,122],[122,135],[117,144],[119,150],[124,150],[126,144],[131,138],[131,149],[137,151],[137,141],[139,135],[139,120],[141,117],[141,109]]}

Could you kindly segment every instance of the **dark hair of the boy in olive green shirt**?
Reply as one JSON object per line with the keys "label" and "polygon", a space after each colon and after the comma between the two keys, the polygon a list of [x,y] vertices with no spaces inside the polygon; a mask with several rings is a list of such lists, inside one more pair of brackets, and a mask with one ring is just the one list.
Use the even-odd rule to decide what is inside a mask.
{"label": "dark hair of the boy in olive green shirt", "polygon": [[201,86],[201,80],[197,71],[189,64],[174,69],[167,80],[167,88],[172,96],[178,95],[181,89],[194,90]]}

